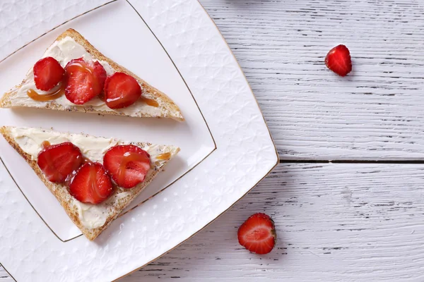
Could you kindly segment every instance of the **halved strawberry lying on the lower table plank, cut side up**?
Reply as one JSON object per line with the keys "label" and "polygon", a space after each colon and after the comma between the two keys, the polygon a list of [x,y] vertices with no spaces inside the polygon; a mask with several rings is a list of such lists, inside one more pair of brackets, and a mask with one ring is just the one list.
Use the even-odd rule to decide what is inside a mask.
{"label": "halved strawberry lying on the lower table plank, cut side up", "polygon": [[240,245],[259,255],[271,252],[277,240],[273,220],[261,213],[250,216],[240,226],[237,237]]}

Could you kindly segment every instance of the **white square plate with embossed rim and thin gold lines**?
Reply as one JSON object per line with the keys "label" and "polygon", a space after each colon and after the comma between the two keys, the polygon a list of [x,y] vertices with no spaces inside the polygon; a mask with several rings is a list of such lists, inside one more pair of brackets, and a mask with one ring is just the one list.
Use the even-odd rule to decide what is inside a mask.
{"label": "white square plate with embossed rim and thin gold lines", "polygon": [[204,228],[278,163],[252,91],[198,1],[89,2],[0,4],[5,39],[0,92],[17,85],[49,44],[72,27],[105,56],[167,93],[186,121],[0,109],[0,125],[53,127],[182,150],[126,213],[90,242],[0,138],[0,263],[17,281],[125,276]]}

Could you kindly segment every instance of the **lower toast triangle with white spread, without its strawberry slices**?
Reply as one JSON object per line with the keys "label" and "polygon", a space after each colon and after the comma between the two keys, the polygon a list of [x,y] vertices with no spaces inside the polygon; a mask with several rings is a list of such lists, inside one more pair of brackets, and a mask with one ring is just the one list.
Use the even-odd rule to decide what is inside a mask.
{"label": "lower toast triangle with white spread, without its strawberry slices", "polygon": [[[94,240],[114,219],[121,214],[132,200],[146,188],[146,185],[163,170],[163,167],[175,157],[179,148],[175,146],[152,145],[145,142],[124,142],[113,138],[93,137],[91,135],[59,133],[54,130],[40,128],[1,127],[0,133],[9,144],[30,164],[37,176],[45,183],[50,192],[59,200],[66,214],[73,223],[81,229],[90,240]],[[136,145],[144,149],[151,156],[151,169],[146,179],[131,189],[115,188],[112,195],[100,204],[83,204],[76,200],[66,185],[50,182],[37,165],[37,156],[42,150],[44,141],[51,145],[62,142],[72,142],[81,149],[84,157],[91,161],[102,163],[102,156],[115,145]],[[158,157],[160,156],[160,157]],[[163,156],[166,156],[165,158]]]}

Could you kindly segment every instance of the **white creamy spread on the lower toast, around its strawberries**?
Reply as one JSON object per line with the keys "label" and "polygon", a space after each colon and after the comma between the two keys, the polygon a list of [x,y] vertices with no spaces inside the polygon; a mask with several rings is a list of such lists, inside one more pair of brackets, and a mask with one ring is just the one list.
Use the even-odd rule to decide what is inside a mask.
{"label": "white creamy spread on the lower toast, around its strawberries", "polygon": [[[122,142],[113,138],[93,137],[83,134],[71,133],[58,133],[52,130],[42,130],[40,128],[11,128],[11,135],[18,143],[23,152],[29,154],[33,160],[37,160],[38,154],[42,150],[42,142],[48,141],[51,145],[56,145],[62,142],[72,142],[81,149],[85,157],[91,161],[98,161],[102,164],[105,152],[115,145],[129,144],[129,142]],[[151,156],[151,164],[155,168],[160,168],[165,164],[165,160],[157,160],[159,154],[170,152],[175,155],[178,152],[177,147],[167,147],[163,145],[146,145],[143,149]],[[153,173],[153,169],[149,171]],[[149,174],[148,173],[148,174]],[[148,177],[148,176],[146,176]],[[140,185],[143,185],[141,183]],[[65,186],[61,186],[69,194]],[[109,199],[101,204],[84,204],[73,198],[70,194],[69,197],[73,201],[78,211],[78,218],[84,227],[93,229],[103,226],[107,221],[110,212],[116,206],[120,199],[132,195],[133,190],[124,190],[118,188]]]}

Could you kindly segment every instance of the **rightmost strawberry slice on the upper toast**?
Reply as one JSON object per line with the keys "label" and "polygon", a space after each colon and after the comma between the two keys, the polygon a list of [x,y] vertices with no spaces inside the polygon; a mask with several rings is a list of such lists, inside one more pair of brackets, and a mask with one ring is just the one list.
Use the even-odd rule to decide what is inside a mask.
{"label": "rightmost strawberry slice on the upper toast", "polygon": [[110,109],[131,106],[141,97],[139,82],[126,73],[114,73],[105,82],[106,105]]}

